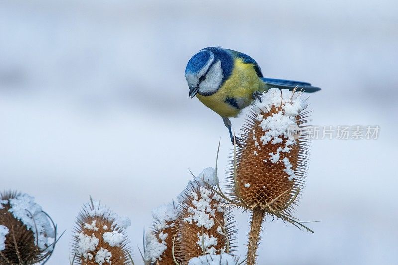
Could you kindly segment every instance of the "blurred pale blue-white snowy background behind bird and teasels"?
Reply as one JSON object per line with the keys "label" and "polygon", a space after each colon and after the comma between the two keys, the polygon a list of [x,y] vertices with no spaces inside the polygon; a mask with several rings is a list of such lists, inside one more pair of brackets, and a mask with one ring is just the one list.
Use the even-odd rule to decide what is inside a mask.
{"label": "blurred pale blue-white snowy background behind bird and teasels", "polygon": [[[377,140],[312,142],[297,208],[314,234],[264,227],[260,265],[397,264],[398,2],[2,0],[0,189],[18,189],[66,229],[69,264],[89,195],[120,215],[136,264],[151,209],[231,150],[221,118],[189,99],[184,69],[207,46],[245,52],[267,77],[323,88],[312,124],[379,125]],[[243,119],[234,119],[235,130]],[[237,214],[244,254],[248,214]]]}

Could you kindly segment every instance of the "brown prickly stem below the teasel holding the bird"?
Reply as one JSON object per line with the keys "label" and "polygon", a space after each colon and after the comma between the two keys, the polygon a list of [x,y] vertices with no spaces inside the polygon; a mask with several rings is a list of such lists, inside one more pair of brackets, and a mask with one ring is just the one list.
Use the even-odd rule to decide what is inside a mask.
{"label": "brown prickly stem below the teasel holding the bird", "polygon": [[247,265],[254,265],[256,262],[256,251],[260,240],[261,225],[265,220],[265,210],[254,208],[252,211],[249,244],[247,247]]}

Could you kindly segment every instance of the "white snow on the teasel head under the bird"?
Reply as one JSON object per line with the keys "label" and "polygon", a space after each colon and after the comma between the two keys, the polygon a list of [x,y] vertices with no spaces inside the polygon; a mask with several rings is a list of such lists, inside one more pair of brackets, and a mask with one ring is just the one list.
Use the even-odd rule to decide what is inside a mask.
{"label": "white snow on the teasel head under the bird", "polygon": [[[279,108],[280,111],[264,118],[263,113],[268,113],[272,107]],[[278,88],[269,89],[268,92],[262,94],[261,101],[256,100],[253,104],[257,120],[260,121],[259,126],[264,131],[260,137],[261,143],[265,145],[271,142],[274,145],[285,141],[283,148],[278,147],[275,153],[269,153],[269,160],[272,163],[282,161],[289,180],[293,180],[295,172],[286,156],[281,159],[281,153],[289,153],[292,146],[297,143],[294,135],[290,132],[292,128],[299,130],[296,116],[306,107],[306,100],[298,96],[297,92],[293,93],[287,89],[279,90]]]}

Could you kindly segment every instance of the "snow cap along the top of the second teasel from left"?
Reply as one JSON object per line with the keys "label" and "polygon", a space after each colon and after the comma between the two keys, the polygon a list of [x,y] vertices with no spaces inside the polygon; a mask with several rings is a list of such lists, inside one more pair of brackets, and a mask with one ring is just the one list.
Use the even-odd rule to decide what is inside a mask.
{"label": "snow cap along the top of the second teasel from left", "polygon": [[105,205],[101,205],[100,201],[93,200],[93,205],[91,204],[91,202],[88,202],[84,205],[84,208],[90,217],[103,215],[105,218],[113,220],[112,226],[117,225],[121,229],[126,229],[131,225],[130,218],[119,216],[118,214],[112,212]]}

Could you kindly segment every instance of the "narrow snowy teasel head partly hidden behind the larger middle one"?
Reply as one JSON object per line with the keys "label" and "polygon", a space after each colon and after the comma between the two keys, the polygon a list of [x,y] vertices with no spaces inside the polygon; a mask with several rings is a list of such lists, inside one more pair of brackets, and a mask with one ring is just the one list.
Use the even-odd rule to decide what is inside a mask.
{"label": "narrow snowy teasel head partly hidden behind the larger middle one", "polygon": [[152,216],[153,228],[145,236],[145,263],[175,265],[172,248],[178,213],[174,201],[154,209]]}

